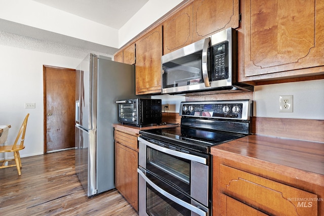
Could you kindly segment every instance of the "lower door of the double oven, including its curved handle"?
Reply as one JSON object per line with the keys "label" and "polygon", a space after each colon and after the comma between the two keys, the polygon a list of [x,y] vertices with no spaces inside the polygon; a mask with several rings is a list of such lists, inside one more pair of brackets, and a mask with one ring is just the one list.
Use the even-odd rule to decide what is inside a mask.
{"label": "lower door of the double oven, including its curved handle", "polygon": [[138,169],[140,195],[139,215],[165,215],[165,216],[208,216],[208,207],[197,202],[183,191],[169,185],[163,179],[157,178],[150,171]]}

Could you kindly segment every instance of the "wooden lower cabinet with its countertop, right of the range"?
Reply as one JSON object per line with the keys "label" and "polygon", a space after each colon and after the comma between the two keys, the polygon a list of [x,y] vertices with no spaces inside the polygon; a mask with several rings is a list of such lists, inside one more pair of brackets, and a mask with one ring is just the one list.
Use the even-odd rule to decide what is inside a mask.
{"label": "wooden lower cabinet with its countertop, right of the range", "polygon": [[251,135],[211,153],[213,216],[323,215],[323,143]]}

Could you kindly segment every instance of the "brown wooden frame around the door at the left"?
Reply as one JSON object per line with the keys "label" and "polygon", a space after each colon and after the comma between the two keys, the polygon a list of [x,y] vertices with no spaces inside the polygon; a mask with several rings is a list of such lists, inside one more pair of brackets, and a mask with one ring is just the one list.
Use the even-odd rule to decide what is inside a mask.
{"label": "brown wooden frame around the door at the left", "polygon": [[55,69],[62,69],[62,70],[70,70],[75,71],[75,69],[71,68],[64,68],[64,67],[57,67],[57,66],[50,66],[50,65],[43,65],[43,114],[44,114],[44,154],[48,154],[47,152],[47,89],[46,89],[46,75],[47,71],[46,68],[55,68]]}

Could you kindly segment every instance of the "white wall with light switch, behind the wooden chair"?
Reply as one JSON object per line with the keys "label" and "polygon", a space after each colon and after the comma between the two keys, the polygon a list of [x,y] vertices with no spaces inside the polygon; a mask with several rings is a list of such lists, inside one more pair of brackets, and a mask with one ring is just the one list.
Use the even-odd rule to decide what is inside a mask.
{"label": "white wall with light switch, behind the wooden chair", "polygon": [[[2,45],[0,50],[0,125],[11,124],[8,144],[12,144],[30,113],[21,156],[43,154],[43,65],[76,68],[81,59]],[[25,103],[35,103],[36,108],[25,109]]]}

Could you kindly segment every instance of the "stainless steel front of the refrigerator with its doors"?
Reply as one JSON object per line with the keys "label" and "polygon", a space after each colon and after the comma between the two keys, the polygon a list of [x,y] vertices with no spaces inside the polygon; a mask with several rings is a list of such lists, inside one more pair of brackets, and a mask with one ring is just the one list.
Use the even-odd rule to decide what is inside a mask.
{"label": "stainless steel front of the refrigerator with its doors", "polygon": [[87,196],[97,193],[97,56],[89,54],[76,68],[75,170]]}

